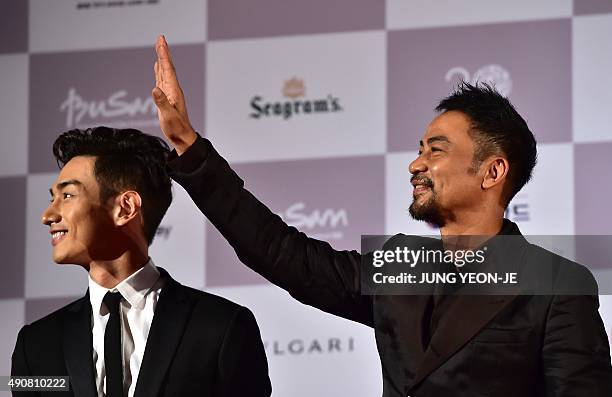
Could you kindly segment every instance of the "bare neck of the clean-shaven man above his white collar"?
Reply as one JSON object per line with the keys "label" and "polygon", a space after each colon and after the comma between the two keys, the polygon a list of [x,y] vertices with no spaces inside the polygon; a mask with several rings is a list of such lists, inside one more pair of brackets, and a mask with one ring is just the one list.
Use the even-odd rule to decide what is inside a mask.
{"label": "bare neck of the clean-shaven man above his white collar", "polygon": [[118,258],[90,262],[89,276],[96,284],[111,289],[141,269],[148,260],[146,250],[126,251]]}

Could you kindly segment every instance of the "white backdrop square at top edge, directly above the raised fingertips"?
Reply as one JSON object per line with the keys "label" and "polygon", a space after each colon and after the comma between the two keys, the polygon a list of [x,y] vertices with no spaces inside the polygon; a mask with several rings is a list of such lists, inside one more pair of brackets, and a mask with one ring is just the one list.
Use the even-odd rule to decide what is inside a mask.
{"label": "white backdrop square at top edge, directly above the raised fingertips", "polygon": [[160,34],[169,43],[202,43],[206,4],[206,0],[31,0],[30,52],[152,48]]}

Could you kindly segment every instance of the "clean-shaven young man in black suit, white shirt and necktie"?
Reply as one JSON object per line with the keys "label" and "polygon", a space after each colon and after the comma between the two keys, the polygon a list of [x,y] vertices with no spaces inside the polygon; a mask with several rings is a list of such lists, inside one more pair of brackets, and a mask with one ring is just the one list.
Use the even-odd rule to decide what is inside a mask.
{"label": "clean-shaven young man in black suit, white shirt and necktie", "polygon": [[62,134],[53,152],[61,172],[42,222],[54,261],[85,268],[89,289],[21,329],[12,376],[68,376],[60,394],[75,397],[269,396],[252,313],[149,258],[172,201],[165,142],[97,127]]}

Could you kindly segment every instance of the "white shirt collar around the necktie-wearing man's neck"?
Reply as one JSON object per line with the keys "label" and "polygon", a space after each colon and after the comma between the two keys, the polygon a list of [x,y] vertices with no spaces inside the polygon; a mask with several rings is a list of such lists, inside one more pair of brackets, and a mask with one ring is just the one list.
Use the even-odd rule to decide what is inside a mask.
{"label": "white shirt collar around the necktie-wearing man's neck", "polygon": [[89,277],[89,301],[94,313],[101,313],[102,300],[108,291],[119,291],[130,307],[139,308],[144,297],[159,280],[159,270],[149,258],[149,261],[114,288],[104,288]]}

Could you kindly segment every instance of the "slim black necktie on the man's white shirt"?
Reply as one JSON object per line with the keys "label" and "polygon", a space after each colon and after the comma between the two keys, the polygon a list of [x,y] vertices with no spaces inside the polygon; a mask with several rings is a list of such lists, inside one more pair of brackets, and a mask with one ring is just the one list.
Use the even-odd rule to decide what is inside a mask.
{"label": "slim black necktie on the man's white shirt", "polygon": [[104,367],[106,369],[106,396],[123,397],[123,363],[121,360],[121,321],[119,319],[119,292],[104,295],[110,317],[104,330]]}

